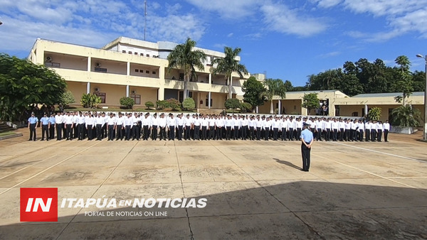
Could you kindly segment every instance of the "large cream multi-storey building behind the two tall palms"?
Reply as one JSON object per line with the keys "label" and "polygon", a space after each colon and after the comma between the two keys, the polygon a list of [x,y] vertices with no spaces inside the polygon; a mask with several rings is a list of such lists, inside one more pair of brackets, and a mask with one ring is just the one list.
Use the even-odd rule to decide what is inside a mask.
{"label": "large cream multi-storey building behind the two tall palms", "polygon": [[[90,93],[101,97],[100,106],[117,107],[120,98],[131,97],[135,107],[143,107],[148,101],[155,104],[157,100],[183,99],[184,70],[168,69],[167,56],[176,45],[120,37],[102,48],[90,48],[37,39],[28,60],[51,67],[62,76],[76,104],[83,94]],[[203,50],[207,58],[204,70],[196,70],[197,77],[187,84],[189,97],[198,109],[222,109],[228,97],[228,82],[225,75],[211,73],[211,62],[225,55],[196,49]],[[233,97],[243,97],[241,85],[248,77],[232,76]]]}

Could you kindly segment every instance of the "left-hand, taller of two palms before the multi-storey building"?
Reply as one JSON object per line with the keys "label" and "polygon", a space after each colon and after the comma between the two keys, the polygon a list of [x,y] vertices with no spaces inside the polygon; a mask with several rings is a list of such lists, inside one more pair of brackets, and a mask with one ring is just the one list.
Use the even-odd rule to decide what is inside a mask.
{"label": "left-hand, taller of two palms before the multi-storey building", "polygon": [[206,54],[201,50],[193,50],[196,46],[196,41],[187,38],[183,44],[176,45],[174,50],[167,56],[169,60],[168,70],[179,67],[184,70],[184,99],[188,97],[187,82],[191,76],[196,73],[195,67],[199,70],[204,70],[204,60]]}

